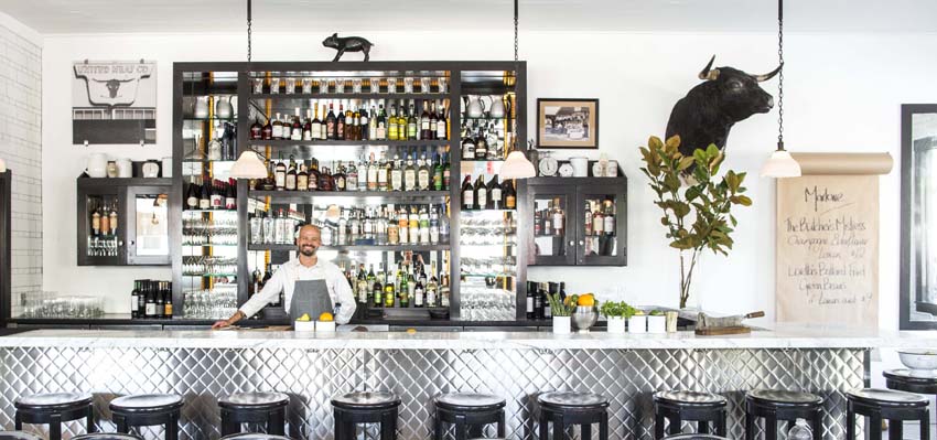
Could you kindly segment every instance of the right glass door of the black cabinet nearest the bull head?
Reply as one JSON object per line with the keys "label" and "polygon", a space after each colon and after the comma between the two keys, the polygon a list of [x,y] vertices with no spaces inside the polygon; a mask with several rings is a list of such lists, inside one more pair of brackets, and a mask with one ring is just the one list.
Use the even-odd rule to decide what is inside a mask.
{"label": "right glass door of the black cabinet nearest the bull head", "polygon": [[624,189],[592,185],[579,192],[577,262],[624,265]]}

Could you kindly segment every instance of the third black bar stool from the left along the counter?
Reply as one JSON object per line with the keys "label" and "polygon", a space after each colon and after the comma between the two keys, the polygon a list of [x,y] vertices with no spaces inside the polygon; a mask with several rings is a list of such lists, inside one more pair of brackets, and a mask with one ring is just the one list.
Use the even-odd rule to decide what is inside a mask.
{"label": "third black bar stool from the left along the counter", "polygon": [[267,433],[282,436],[290,396],[282,393],[237,393],[218,399],[222,436],[240,432],[240,423],[266,423]]}

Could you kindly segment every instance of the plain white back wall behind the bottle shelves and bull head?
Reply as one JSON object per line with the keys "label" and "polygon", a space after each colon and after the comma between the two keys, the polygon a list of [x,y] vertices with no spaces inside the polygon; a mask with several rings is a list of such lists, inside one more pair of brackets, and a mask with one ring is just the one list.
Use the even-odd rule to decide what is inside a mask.
{"label": "plain white back wall behind the bottle shelves and bull head", "polygon": [[[349,32],[354,33],[354,32]],[[260,34],[259,61],[329,60],[323,32]],[[509,60],[511,35],[470,33],[370,33],[373,60]],[[668,248],[659,214],[639,173],[637,147],[664,135],[674,103],[698,83],[696,74],[717,54],[717,65],[752,73],[777,62],[773,34],[521,33],[528,61],[528,106],[537,97],[596,97],[601,100],[601,151],[617,159],[629,176],[628,267],[562,270],[570,291],[604,298],[624,294],[634,303],[677,304],[677,255]],[[791,151],[887,151],[900,159],[900,105],[937,100],[933,74],[935,35],[787,35],[785,140]],[[169,277],[164,269],[104,269],[75,266],[75,178],[89,151],[133,159],[160,158],[171,150],[172,62],[243,61],[245,35],[68,35],[45,40],[43,51],[43,197],[46,290],[103,293],[110,310],[123,311],[136,278]],[[358,54],[347,54],[355,60]],[[143,149],[71,144],[69,67],[75,60],[155,60],[159,63],[158,143]],[[777,82],[765,87],[776,94]],[[532,111],[531,111],[532,112]],[[62,129],[51,129],[61,127]],[[534,132],[534,118],[529,118]],[[729,258],[707,255],[694,294],[707,309],[765,310],[774,316],[774,182],[757,170],[775,148],[776,112],[739,124],[728,144],[728,167],[748,171],[755,205],[736,215],[735,249]],[[577,152],[581,153],[580,151]],[[880,325],[897,328],[898,170],[882,178]],[[549,271],[548,271],[549,270]],[[557,271],[531,268],[532,279]]]}

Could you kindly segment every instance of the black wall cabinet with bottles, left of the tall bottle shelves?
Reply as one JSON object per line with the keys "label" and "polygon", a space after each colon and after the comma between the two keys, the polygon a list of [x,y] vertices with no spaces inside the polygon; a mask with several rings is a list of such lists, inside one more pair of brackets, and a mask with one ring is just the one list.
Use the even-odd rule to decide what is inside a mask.
{"label": "black wall cabinet with bottles, left of the tall bottle shelves", "polygon": [[77,180],[78,266],[170,264],[171,179]]}

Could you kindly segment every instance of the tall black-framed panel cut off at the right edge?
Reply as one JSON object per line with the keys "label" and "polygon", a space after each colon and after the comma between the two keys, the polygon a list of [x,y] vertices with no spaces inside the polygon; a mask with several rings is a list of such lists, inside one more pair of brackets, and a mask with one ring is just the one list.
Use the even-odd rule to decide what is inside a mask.
{"label": "tall black-framed panel cut off at the right edge", "polygon": [[937,330],[937,104],[902,105],[901,330]]}

